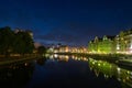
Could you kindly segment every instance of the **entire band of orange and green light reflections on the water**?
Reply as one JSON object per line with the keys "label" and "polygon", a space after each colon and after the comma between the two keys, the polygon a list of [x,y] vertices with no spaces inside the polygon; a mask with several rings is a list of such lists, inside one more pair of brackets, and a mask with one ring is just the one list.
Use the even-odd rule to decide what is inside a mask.
{"label": "entire band of orange and green light reflections on the water", "polygon": [[68,55],[55,54],[52,57],[57,58],[58,61],[66,61],[66,62],[68,62],[69,58],[74,61],[88,62],[89,69],[90,72],[94,70],[96,77],[100,77],[100,74],[102,74],[106,80],[116,78],[120,82],[121,87],[123,88],[132,87],[132,70],[120,68],[114,64],[110,64],[103,61],[96,61],[96,59],[87,58],[82,56],[78,57],[75,55],[68,56]]}

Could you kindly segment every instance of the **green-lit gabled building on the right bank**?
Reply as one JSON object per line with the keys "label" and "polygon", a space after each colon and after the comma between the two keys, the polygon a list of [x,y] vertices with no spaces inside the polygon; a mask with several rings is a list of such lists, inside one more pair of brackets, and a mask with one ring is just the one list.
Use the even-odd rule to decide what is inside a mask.
{"label": "green-lit gabled building on the right bank", "polygon": [[95,54],[111,54],[116,52],[114,48],[114,36],[105,35],[102,38],[96,36],[95,40],[90,41],[88,44],[89,53]]}

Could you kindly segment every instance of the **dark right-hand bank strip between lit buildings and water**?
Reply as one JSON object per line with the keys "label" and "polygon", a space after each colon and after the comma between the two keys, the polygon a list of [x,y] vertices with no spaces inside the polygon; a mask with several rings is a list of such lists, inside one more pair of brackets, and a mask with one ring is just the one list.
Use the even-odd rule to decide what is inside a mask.
{"label": "dark right-hand bank strip between lit buildings and water", "polygon": [[106,61],[116,65],[132,66],[132,55],[125,54],[84,54],[84,53],[54,53],[58,55],[76,55],[97,61]]}

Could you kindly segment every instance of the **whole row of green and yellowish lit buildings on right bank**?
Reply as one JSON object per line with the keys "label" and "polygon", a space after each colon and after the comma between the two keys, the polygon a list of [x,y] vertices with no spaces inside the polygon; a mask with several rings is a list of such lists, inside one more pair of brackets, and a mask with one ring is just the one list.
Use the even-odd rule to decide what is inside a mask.
{"label": "whole row of green and yellowish lit buildings on right bank", "polygon": [[132,54],[132,30],[121,31],[117,36],[96,36],[89,42],[88,51],[96,54]]}

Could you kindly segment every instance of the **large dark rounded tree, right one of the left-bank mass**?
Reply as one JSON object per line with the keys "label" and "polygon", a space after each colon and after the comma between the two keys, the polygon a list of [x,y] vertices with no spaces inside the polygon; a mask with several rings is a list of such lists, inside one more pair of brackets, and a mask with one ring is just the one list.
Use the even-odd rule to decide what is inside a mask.
{"label": "large dark rounded tree, right one of the left-bank mass", "polygon": [[31,54],[33,50],[34,42],[31,35],[28,32],[18,32],[14,40],[14,53]]}

